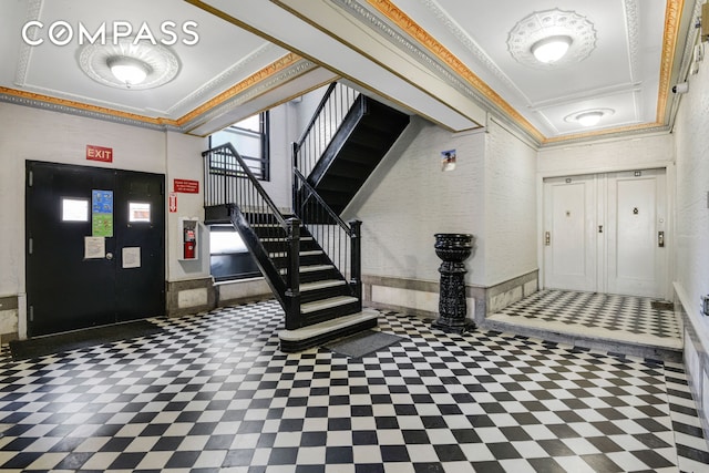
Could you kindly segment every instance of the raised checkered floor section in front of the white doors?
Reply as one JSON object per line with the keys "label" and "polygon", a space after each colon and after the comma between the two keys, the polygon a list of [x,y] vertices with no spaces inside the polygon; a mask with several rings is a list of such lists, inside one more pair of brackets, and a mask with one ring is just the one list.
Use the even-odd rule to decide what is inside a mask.
{"label": "raised checkered floor section in front of the white doors", "polygon": [[680,318],[672,310],[654,308],[653,299],[644,297],[546,289],[490,319],[657,347],[682,346]]}

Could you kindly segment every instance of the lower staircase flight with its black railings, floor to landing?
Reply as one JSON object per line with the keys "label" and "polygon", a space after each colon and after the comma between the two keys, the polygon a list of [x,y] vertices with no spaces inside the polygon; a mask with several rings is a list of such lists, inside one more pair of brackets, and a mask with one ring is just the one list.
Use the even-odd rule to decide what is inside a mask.
{"label": "lower staircase flight with its black railings, floor to landing", "polygon": [[228,218],[249,248],[286,313],[281,351],[377,326],[377,312],[362,310],[359,222],[346,224],[317,196],[302,219],[281,213],[232,144],[203,156],[205,222]]}

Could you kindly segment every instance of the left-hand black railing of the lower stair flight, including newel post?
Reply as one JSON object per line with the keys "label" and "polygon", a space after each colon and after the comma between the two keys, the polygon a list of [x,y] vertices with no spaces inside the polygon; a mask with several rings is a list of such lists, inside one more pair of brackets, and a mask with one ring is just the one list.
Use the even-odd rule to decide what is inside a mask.
{"label": "left-hand black railing of the lower stair flight, including newel post", "polygon": [[[300,325],[300,222],[282,216],[230,143],[202,155],[205,207],[228,207],[232,223],[286,312],[286,329],[297,329]],[[270,258],[274,253],[288,255],[282,267],[274,264]]]}

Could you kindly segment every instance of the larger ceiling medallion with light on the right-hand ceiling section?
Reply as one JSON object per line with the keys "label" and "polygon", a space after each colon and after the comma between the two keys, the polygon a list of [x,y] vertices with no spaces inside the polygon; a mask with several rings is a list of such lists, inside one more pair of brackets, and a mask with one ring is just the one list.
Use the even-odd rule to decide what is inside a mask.
{"label": "larger ceiling medallion with light on the right-hand ceiling section", "polygon": [[[542,62],[534,54],[548,39],[568,39],[559,58]],[[565,40],[566,41],[566,40]],[[573,11],[537,11],[521,20],[507,35],[510,54],[521,64],[547,69],[580,62],[596,48],[596,30],[588,19]]]}

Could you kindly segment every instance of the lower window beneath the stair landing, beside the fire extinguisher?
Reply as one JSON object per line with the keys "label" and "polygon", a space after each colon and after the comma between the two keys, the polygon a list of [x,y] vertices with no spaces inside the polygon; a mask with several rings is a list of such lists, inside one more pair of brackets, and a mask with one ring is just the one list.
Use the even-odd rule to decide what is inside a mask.
{"label": "lower window beneath the stair landing, beside the fire extinguisher", "polygon": [[244,279],[261,273],[232,225],[209,226],[209,268],[216,281]]}

